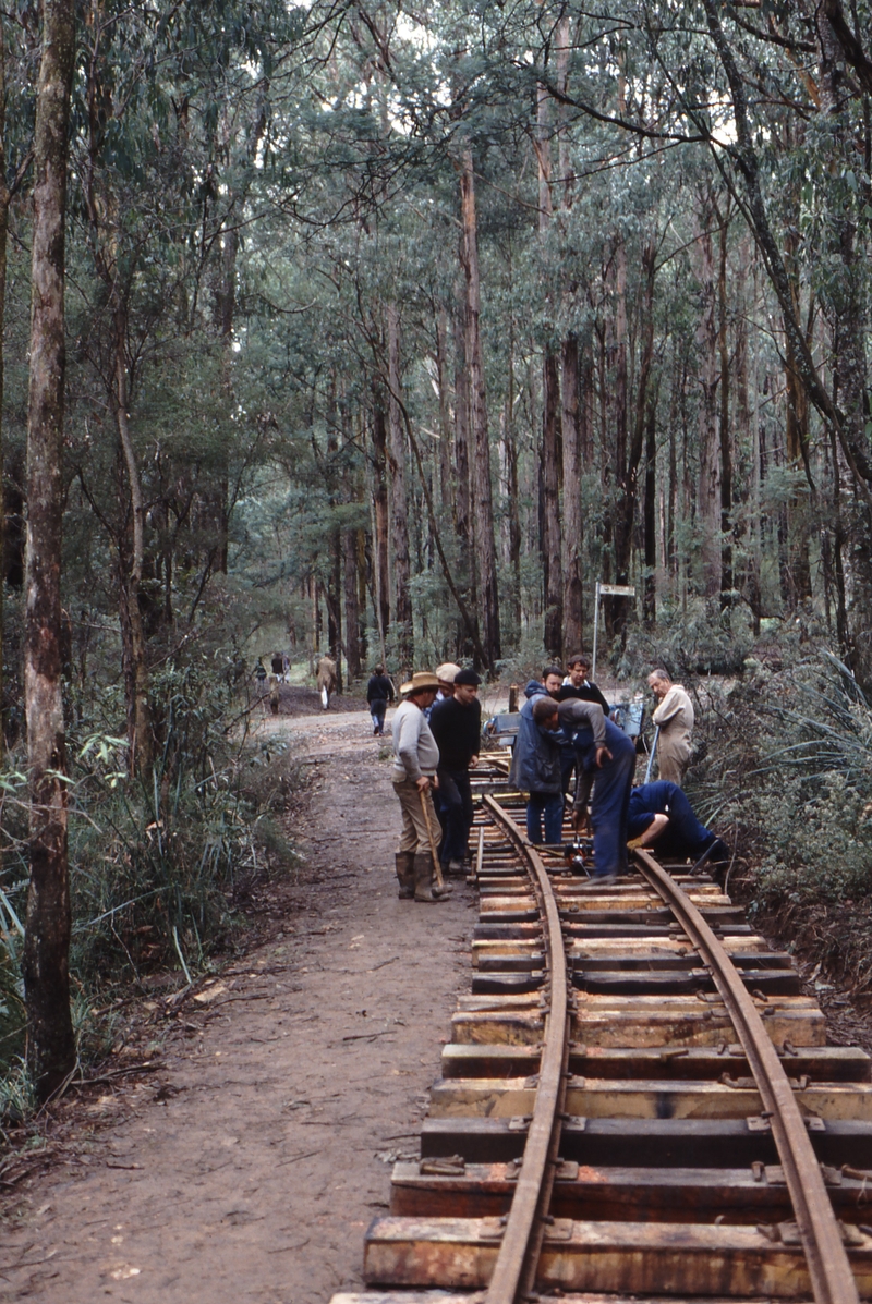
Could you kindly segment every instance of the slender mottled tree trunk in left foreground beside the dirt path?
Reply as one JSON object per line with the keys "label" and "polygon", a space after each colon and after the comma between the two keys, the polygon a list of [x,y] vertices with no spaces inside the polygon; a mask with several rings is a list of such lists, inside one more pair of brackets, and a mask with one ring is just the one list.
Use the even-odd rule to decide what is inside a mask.
{"label": "slender mottled tree trunk in left foreground beside the dirt path", "polygon": [[25,704],[30,888],[22,971],[27,1068],[40,1099],[72,1073],[69,870],[60,605],[64,449],[64,226],[76,5],[43,0],[34,137],[33,306],[27,400]]}

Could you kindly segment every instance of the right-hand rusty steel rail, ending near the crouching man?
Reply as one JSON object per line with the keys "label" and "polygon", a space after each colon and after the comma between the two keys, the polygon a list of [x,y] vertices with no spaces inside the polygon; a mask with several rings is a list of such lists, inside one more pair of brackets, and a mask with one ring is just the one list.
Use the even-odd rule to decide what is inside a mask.
{"label": "right-hand rusty steel rail, ending near the crouching man", "polygon": [[692,940],[727,1007],[760,1091],[785,1171],[816,1304],[855,1304],[856,1282],[812,1142],[771,1038],[727,952],[687,895],[655,859],[637,865]]}

